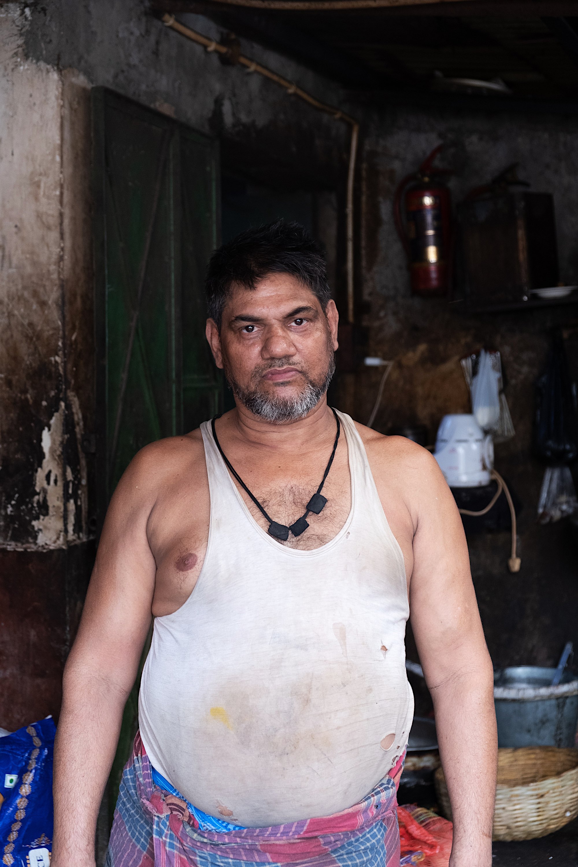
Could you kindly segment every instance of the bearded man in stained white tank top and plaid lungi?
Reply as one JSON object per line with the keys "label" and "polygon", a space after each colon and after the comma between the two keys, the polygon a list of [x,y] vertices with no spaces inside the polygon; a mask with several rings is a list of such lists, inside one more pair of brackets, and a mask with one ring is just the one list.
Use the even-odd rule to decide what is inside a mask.
{"label": "bearded man in stained white tank top and plaid lungi", "polygon": [[490,867],[492,667],[451,492],[425,449],[328,407],[338,315],[301,227],[224,245],[207,297],[236,408],[114,492],[64,675],[53,867],[94,867],[152,617],[108,864],[399,864],[410,607],[451,865]]}

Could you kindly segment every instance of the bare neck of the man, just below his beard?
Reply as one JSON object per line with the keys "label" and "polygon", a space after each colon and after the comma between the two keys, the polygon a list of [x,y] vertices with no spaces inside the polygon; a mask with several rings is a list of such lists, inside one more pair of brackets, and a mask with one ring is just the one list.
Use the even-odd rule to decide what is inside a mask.
{"label": "bare neck of the man, just below his beard", "polygon": [[328,407],[327,395],[304,418],[274,424],[250,412],[237,402],[231,415],[231,433],[250,446],[270,448],[279,452],[310,449],[318,442],[325,444],[334,436],[334,414]]}

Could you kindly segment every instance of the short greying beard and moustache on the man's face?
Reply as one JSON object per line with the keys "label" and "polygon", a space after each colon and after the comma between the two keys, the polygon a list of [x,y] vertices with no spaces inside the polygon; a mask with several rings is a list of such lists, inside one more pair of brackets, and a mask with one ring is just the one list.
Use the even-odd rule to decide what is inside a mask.
{"label": "short greying beard and moustache on the man's face", "polygon": [[[276,364],[270,365],[268,368],[265,368],[265,370],[260,371],[259,375],[265,373],[266,370],[287,367],[288,364],[290,364],[290,362],[280,359]],[[250,413],[257,415],[264,421],[269,421],[271,424],[278,425],[287,421],[298,421],[303,419],[312,409],[315,409],[323,394],[328,390],[329,382],[333,378],[335,372],[335,361],[332,352],[328,363],[327,373],[321,382],[313,381],[302,371],[302,375],[306,379],[305,387],[302,389],[300,394],[289,394],[287,397],[284,397],[283,394],[275,394],[274,396],[263,394],[263,392],[259,391],[257,388],[242,388],[238,382],[233,379],[231,372],[226,367],[224,372],[233,390],[233,394],[235,394],[235,397],[244,404],[244,407],[247,407]]]}

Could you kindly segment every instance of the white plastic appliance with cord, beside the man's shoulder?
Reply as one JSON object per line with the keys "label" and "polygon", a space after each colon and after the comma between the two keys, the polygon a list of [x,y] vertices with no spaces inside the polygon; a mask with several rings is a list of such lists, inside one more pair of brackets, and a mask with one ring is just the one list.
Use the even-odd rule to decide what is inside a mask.
{"label": "white plastic appliance with cord, beside the man's shoulder", "polygon": [[433,457],[450,487],[490,484],[494,443],[473,415],[445,415],[438,427]]}

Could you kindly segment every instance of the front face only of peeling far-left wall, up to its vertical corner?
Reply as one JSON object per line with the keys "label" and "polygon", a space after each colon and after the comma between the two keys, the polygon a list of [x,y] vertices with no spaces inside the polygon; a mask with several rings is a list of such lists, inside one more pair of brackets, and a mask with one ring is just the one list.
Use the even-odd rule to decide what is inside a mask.
{"label": "front face only of peeling far-left wall, up to its vertical corner", "polygon": [[64,539],[62,82],[25,58],[14,17],[0,14],[0,538],[52,547]]}

